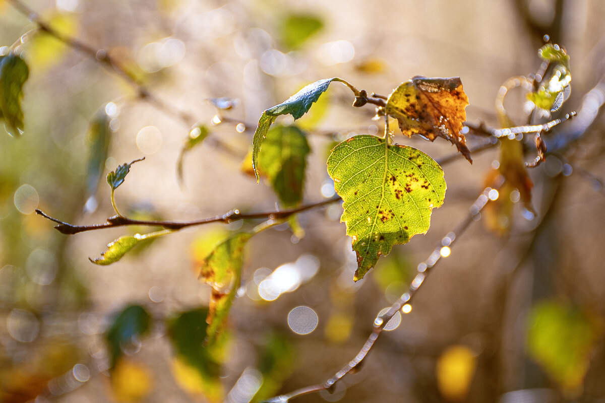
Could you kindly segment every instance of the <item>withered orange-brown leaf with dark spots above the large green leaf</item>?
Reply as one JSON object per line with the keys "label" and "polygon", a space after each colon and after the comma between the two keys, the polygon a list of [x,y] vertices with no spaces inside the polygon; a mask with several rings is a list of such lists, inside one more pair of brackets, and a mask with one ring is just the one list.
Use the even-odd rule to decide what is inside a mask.
{"label": "withered orange-brown leaf with dark spots above the large green leaf", "polygon": [[399,121],[402,133],[420,135],[430,141],[437,137],[456,144],[469,163],[473,163],[460,132],[466,120],[468,97],[460,77],[449,79],[416,76],[402,83],[389,95],[385,112]]}

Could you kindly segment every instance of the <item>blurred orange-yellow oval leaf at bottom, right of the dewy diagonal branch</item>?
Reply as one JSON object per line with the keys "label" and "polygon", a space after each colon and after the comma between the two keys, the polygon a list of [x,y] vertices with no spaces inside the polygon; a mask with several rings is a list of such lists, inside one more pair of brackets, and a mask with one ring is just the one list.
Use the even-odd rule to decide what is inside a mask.
{"label": "blurred orange-yellow oval leaf at bottom, right of the dewy diagonal branch", "polygon": [[477,361],[469,347],[450,346],[437,359],[439,392],[448,401],[464,401],[468,394]]}

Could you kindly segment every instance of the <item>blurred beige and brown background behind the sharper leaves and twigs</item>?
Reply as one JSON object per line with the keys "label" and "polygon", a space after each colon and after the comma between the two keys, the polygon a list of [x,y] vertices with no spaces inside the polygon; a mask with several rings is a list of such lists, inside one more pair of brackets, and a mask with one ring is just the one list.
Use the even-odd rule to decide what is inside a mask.
{"label": "blurred beige and brown background behind the sharper leaves and twigs", "polygon": [[[498,127],[500,85],[537,71],[545,34],[567,50],[573,75],[552,118],[572,110],[578,117],[545,135],[556,153],[530,170],[536,214],[517,202],[518,192],[503,201],[505,213],[484,211],[362,370],[332,394],[296,401],[605,402],[604,2],[26,4],[65,36],[104,50],[152,96],[0,1],[0,45],[23,36],[18,49],[30,66],[24,134],[0,129],[1,402],[221,401],[221,387],[225,401],[248,402],[324,382],[468,214],[498,166],[497,147],[473,155],[472,166],[460,155],[444,164],[448,191],[430,231],[395,247],[358,283],[339,203],[299,214],[304,236],[281,225],[253,237],[215,357],[221,387],[204,381],[205,364],[187,366],[175,352],[195,351],[200,340],[195,321],[211,294],[198,280],[200,260],[215,240],[258,221],[189,228],[96,266],[88,257],[145,229],[65,236],[34,209],[75,224],[103,222],[113,215],[105,175],[145,156],[116,190],[126,215],[182,221],[275,210],[272,189],[257,185],[244,163],[264,109],[329,77],[388,95],[416,75],[460,76],[468,120]],[[218,104],[231,109],[209,102],[220,97],[235,99]],[[333,83],[297,121],[312,147],[303,204],[333,196],[325,160],[335,141],[382,130],[370,105],[352,101]],[[528,119],[524,105],[523,92],[511,92],[506,106],[516,124]],[[208,137],[183,152],[200,125]],[[433,158],[456,152],[442,139],[395,141]],[[269,276],[285,285],[267,293]]]}

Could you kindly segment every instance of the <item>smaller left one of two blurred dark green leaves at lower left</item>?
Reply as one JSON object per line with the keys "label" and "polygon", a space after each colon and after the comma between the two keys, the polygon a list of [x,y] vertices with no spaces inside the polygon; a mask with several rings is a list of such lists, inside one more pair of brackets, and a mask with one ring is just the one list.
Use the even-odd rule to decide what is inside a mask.
{"label": "smaller left one of two blurred dark green leaves at lower left", "polygon": [[151,315],[139,305],[130,305],[122,309],[111,321],[111,327],[105,334],[110,348],[110,367],[122,356],[122,349],[132,346],[149,332]]}

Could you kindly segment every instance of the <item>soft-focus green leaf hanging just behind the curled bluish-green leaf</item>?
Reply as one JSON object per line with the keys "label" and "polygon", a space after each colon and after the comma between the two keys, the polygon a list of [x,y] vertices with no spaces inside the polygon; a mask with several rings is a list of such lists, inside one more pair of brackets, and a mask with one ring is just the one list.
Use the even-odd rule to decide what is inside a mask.
{"label": "soft-focus green leaf hanging just behind the curled bluish-green leaf", "polygon": [[307,137],[296,126],[280,124],[267,133],[259,155],[261,174],[267,176],[284,207],[295,207],[302,201],[309,152]]}

